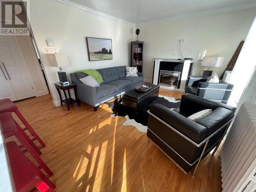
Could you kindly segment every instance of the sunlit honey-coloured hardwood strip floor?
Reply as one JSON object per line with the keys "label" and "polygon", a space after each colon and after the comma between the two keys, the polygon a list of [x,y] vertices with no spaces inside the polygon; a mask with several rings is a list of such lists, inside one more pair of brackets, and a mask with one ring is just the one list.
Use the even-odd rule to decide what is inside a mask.
{"label": "sunlit honey-coloured hardwood strip floor", "polygon": [[123,126],[124,117],[111,117],[106,104],[94,112],[74,103],[67,111],[66,105],[53,106],[50,95],[15,103],[46,143],[41,158],[54,173],[56,191],[221,191],[219,152],[205,157],[193,178],[146,134]]}

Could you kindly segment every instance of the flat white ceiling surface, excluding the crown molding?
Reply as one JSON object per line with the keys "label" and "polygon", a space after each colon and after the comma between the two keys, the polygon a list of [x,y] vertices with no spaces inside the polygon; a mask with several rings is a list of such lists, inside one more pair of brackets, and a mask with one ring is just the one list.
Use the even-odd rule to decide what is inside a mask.
{"label": "flat white ceiling surface, excluding the crown molding", "polygon": [[[66,0],[65,0],[66,1]],[[126,20],[144,23],[203,11],[256,6],[256,0],[68,0]],[[228,10],[228,9],[227,9]]]}

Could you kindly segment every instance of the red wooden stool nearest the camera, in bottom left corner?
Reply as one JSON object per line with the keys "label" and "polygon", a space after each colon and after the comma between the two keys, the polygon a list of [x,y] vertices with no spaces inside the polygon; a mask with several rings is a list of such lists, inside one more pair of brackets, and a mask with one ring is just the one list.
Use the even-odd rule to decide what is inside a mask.
{"label": "red wooden stool nearest the camera, in bottom left corner", "polygon": [[14,141],[6,143],[14,185],[17,192],[36,187],[39,191],[55,191],[55,185],[19,150]]}

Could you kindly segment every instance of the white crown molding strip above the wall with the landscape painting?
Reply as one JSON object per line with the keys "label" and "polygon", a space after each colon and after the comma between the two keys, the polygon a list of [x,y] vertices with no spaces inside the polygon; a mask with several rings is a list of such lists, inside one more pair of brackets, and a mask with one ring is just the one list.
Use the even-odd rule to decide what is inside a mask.
{"label": "white crown molding strip above the wall with the landscape painting", "polygon": [[97,14],[97,15],[100,15],[100,16],[104,16],[104,17],[107,17],[107,18],[111,18],[111,19],[113,19],[113,20],[117,20],[118,22],[122,22],[122,23],[125,23],[125,24],[130,24],[130,25],[133,25],[133,26],[136,25],[135,23],[128,22],[127,20],[123,20],[123,19],[120,19],[120,18],[111,16],[111,15],[108,15],[108,14],[105,14],[105,13],[102,13],[102,12],[99,12],[99,11],[96,11],[96,10],[93,10],[93,9],[90,9],[90,8],[88,8],[88,7],[84,7],[84,6],[82,6],[82,5],[79,5],[79,4],[70,2],[70,1],[68,1],[68,0],[49,0],[49,1],[56,2],[56,3],[60,3],[60,4],[64,4],[64,5],[67,5],[67,6],[70,6],[70,7],[75,7],[75,8],[84,10],[84,11],[89,11],[89,12],[91,12],[91,13],[94,13],[94,14]]}

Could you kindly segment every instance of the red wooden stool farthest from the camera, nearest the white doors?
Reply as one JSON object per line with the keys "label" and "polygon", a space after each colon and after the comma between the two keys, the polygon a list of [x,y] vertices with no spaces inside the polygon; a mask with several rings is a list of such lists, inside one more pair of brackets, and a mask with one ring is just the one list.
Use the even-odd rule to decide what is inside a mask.
{"label": "red wooden stool farthest from the camera, nearest the white doors", "polygon": [[31,135],[34,136],[33,141],[37,140],[41,144],[42,147],[46,146],[46,144],[41,140],[41,138],[36,134],[36,132],[30,126],[28,121],[18,111],[18,107],[10,99],[1,99],[0,100],[0,113],[5,113],[5,112],[10,112],[10,113],[14,112],[18,116],[20,121],[22,121],[23,124],[26,126],[26,128],[23,129],[23,131],[25,132],[26,130],[28,130],[31,133]]}

